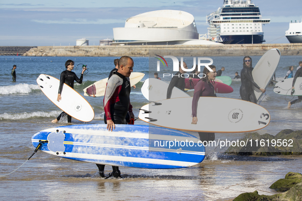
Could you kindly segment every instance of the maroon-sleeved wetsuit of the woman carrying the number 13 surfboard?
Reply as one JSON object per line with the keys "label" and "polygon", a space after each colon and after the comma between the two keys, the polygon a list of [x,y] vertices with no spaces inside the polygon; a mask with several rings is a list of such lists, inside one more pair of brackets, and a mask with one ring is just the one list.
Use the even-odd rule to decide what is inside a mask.
{"label": "maroon-sleeved wetsuit of the woman carrying the number 13 surfboard", "polygon": [[[213,84],[200,80],[195,85],[194,96],[193,96],[193,101],[192,101],[192,117],[197,116],[197,104],[198,104],[198,100],[199,100],[200,96],[217,97]],[[198,132],[198,134],[199,134],[199,139],[202,142],[215,140],[215,133]]]}

